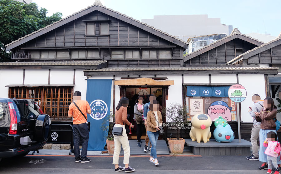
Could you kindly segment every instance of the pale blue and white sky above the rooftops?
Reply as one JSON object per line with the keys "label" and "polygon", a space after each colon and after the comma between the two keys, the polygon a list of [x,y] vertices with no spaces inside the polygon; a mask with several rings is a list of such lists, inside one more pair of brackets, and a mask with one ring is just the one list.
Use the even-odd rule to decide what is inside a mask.
{"label": "pale blue and white sky above the rooftops", "polygon": [[[100,0],[102,5],[134,19],[153,19],[155,15],[207,14],[221,23],[252,32],[279,36],[281,0]],[[33,0],[48,16],[62,12],[62,18],[93,5],[95,0]],[[183,21],[184,22],[184,21]],[[188,22],[188,21],[185,21]],[[161,29],[161,28],[159,28]]]}

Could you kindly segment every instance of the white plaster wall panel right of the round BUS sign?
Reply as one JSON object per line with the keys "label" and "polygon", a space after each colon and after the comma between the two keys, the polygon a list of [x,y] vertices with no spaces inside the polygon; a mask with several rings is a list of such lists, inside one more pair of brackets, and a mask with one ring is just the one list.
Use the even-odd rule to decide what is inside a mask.
{"label": "white plaster wall panel right of the round BUS sign", "polygon": [[241,102],[241,120],[243,122],[253,122],[253,117],[249,115],[249,106],[252,106],[252,96],[259,94],[261,100],[266,96],[264,74],[239,74],[239,84],[245,87],[247,97]]}

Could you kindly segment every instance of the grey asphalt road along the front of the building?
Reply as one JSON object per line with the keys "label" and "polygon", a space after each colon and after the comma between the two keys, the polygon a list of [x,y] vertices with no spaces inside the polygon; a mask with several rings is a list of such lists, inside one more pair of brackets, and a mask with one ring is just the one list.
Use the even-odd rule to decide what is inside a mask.
{"label": "grey asphalt road along the front of the building", "polygon": [[[90,156],[91,162],[76,163],[73,156],[27,155],[2,159],[0,173],[116,173],[112,156]],[[266,173],[259,170],[259,161],[250,161],[246,156],[159,156],[159,167],[148,161],[149,156],[131,156],[130,166],[134,173]],[[123,157],[119,158],[119,164]],[[122,172],[120,172],[122,173]]]}

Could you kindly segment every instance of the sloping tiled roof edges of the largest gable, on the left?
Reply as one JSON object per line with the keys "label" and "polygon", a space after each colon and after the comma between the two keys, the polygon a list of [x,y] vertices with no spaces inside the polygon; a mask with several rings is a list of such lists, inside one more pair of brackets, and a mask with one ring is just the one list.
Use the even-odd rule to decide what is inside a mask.
{"label": "sloping tiled roof edges of the largest gable, on the left", "polygon": [[[91,6],[87,7],[87,8],[85,8],[85,9],[82,9],[82,10],[80,10],[79,12],[75,12],[75,13],[73,13],[72,15],[69,15],[69,16],[67,16],[67,17],[65,17],[65,18],[63,18],[63,19],[61,19],[61,20],[59,20],[59,21],[57,21],[57,22],[54,22],[54,23],[52,23],[52,24],[50,24],[50,25],[47,25],[47,26],[44,27],[44,28],[41,28],[41,29],[39,29],[39,30],[37,30],[37,31],[34,31],[34,32],[30,33],[30,34],[27,34],[27,35],[25,35],[24,37],[21,37],[21,38],[15,40],[15,41],[12,41],[11,43],[9,43],[9,44],[7,44],[7,45],[5,45],[5,46],[7,47],[7,50],[10,50],[10,49],[12,49],[12,48],[14,48],[14,47],[17,47],[17,46],[21,45],[22,43],[18,43],[18,44],[17,44],[17,42],[22,41],[23,39],[24,39],[24,42],[23,42],[23,43],[25,43],[25,42],[27,42],[27,41],[29,41],[29,40],[35,38],[35,37],[38,37],[38,36],[40,36],[40,35],[43,35],[43,34],[45,34],[45,33],[47,33],[47,32],[50,32],[51,30],[53,30],[53,29],[55,29],[55,28],[57,28],[57,27],[60,27],[60,26],[66,24],[66,23],[68,23],[68,22],[71,22],[71,21],[73,21],[73,20],[75,20],[75,19],[77,19],[77,18],[79,18],[79,17],[82,17],[82,16],[84,16],[85,14],[88,14],[88,13],[93,12],[93,11],[95,11],[95,10],[99,11],[98,7],[102,7],[102,8],[104,8],[104,9],[108,10],[109,12],[117,13],[118,15],[115,16],[116,18],[119,17],[119,19],[120,19],[120,18],[122,18],[122,17],[125,17],[125,18],[122,18],[122,19],[126,19],[126,20],[123,20],[123,21],[124,21],[124,22],[127,22],[127,23],[130,23],[131,25],[136,24],[136,22],[137,22],[138,24],[141,24],[141,26],[137,26],[137,27],[140,27],[141,29],[143,29],[143,30],[145,30],[145,31],[148,31],[148,29],[152,29],[152,30],[150,30],[150,31],[148,31],[148,32],[151,32],[151,31],[152,31],[152,32],[151,32],[152,34],[155,34],[156,36],[161,37],[161,38],[164,38],[164,39],[166,39],[166,40],[167,40],[167,38],[170,38],[170,39],[172,39],[172,41],[171,41],[171,40],[168,40],[168,41],[170,41],[170,42],[173,42],[173,41],[174,41],[173,43],[176,44],[176,45],[179,45],[179,46],[184,47],[184,48],[187,48],[187,46],[188,46],[188,43],[187,43],[187,42],[184,42],[183,40],[181,40],[181,39],[179,39],[179,38],[177,38],[177,37],[175,37],[175,36],[172,36],[172,35],[168,34],[167,32],[163,32],[163,31],[161,31],[161,30],[159,30],[159,29],[154,28],[153,26],[147,25],[147,24],[144,23],[144,22],[141,22],[141,21],[136,20],[136,19],[134,19],[134,18],[132,18],[132,17],[126,16],[125,14],[122,14],[122,13],[120,13],[120,12],[114,11],[114,10],[112,10],[111,8],[107,8],[107,7],[103,6],[99,0],[96,0],[93,5],[91,5]],[[122,19],[121,19],[121,20],[122,20]],[[51,27],[52,27],[52,28],[51,28]],[[51,30],[50,30],[50,29],[51,29]],[[36,34],[36,35],[35,35],[35,34]],[[33,37],[32,37],[32,36],[33,36]],[[35,36],[35,37],[34,37],[34,36]]]}

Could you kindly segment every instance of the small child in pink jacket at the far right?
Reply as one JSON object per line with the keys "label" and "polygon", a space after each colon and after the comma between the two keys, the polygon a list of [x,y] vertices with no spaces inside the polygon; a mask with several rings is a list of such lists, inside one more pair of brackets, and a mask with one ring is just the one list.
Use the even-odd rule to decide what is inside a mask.
{"label": "small child in pink jacket at the far right", "polygon": [[[274,174],[279,174],[277,157],[280,153],[281,147],[280,143],[277,141],[277,135],[275,132],[268,132],[267,138],[264,141],[265,154],[267,155],[268,171],[267,173],[272,173],[272,169],[275,169]],[[272,164],[274,168],[272,167]]]}

